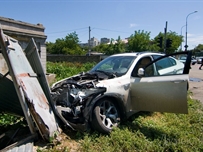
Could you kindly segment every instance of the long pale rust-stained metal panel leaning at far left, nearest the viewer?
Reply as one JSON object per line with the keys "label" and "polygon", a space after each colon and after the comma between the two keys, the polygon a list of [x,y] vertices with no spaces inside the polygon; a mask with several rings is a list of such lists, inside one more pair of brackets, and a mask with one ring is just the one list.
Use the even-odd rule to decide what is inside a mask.
{"label": "long pale rust-stained metal panel leaning at far left, nearest the viewer", "polygon": [[33,118],[41,136],[49,140],[59,132],[59,127],[37,74],[34,73],[18,41],[5,35],[2,30],[0,44],[31,133],[35,132]]}

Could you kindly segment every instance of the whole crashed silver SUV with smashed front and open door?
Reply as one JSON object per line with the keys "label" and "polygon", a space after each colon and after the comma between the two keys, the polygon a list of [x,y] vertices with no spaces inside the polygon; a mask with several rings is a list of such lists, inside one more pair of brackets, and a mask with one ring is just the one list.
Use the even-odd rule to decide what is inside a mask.
{"label": "whole crashed silver SUV with smashed front and open door", "polygon": [[138,111],[187,113],[188,64],[151,52],[109,56],[52,85],[56,113],[74,130],[103,133]]}

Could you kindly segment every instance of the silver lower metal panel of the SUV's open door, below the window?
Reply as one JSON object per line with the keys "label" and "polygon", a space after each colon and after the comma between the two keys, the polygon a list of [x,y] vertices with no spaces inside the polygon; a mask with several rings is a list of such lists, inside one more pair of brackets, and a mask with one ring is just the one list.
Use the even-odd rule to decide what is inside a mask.
{"label": "silver lower metal panel of the SUV's open door, below the window", "polygon": [[187,113],[188,75],[131,78],[133,110]]}

